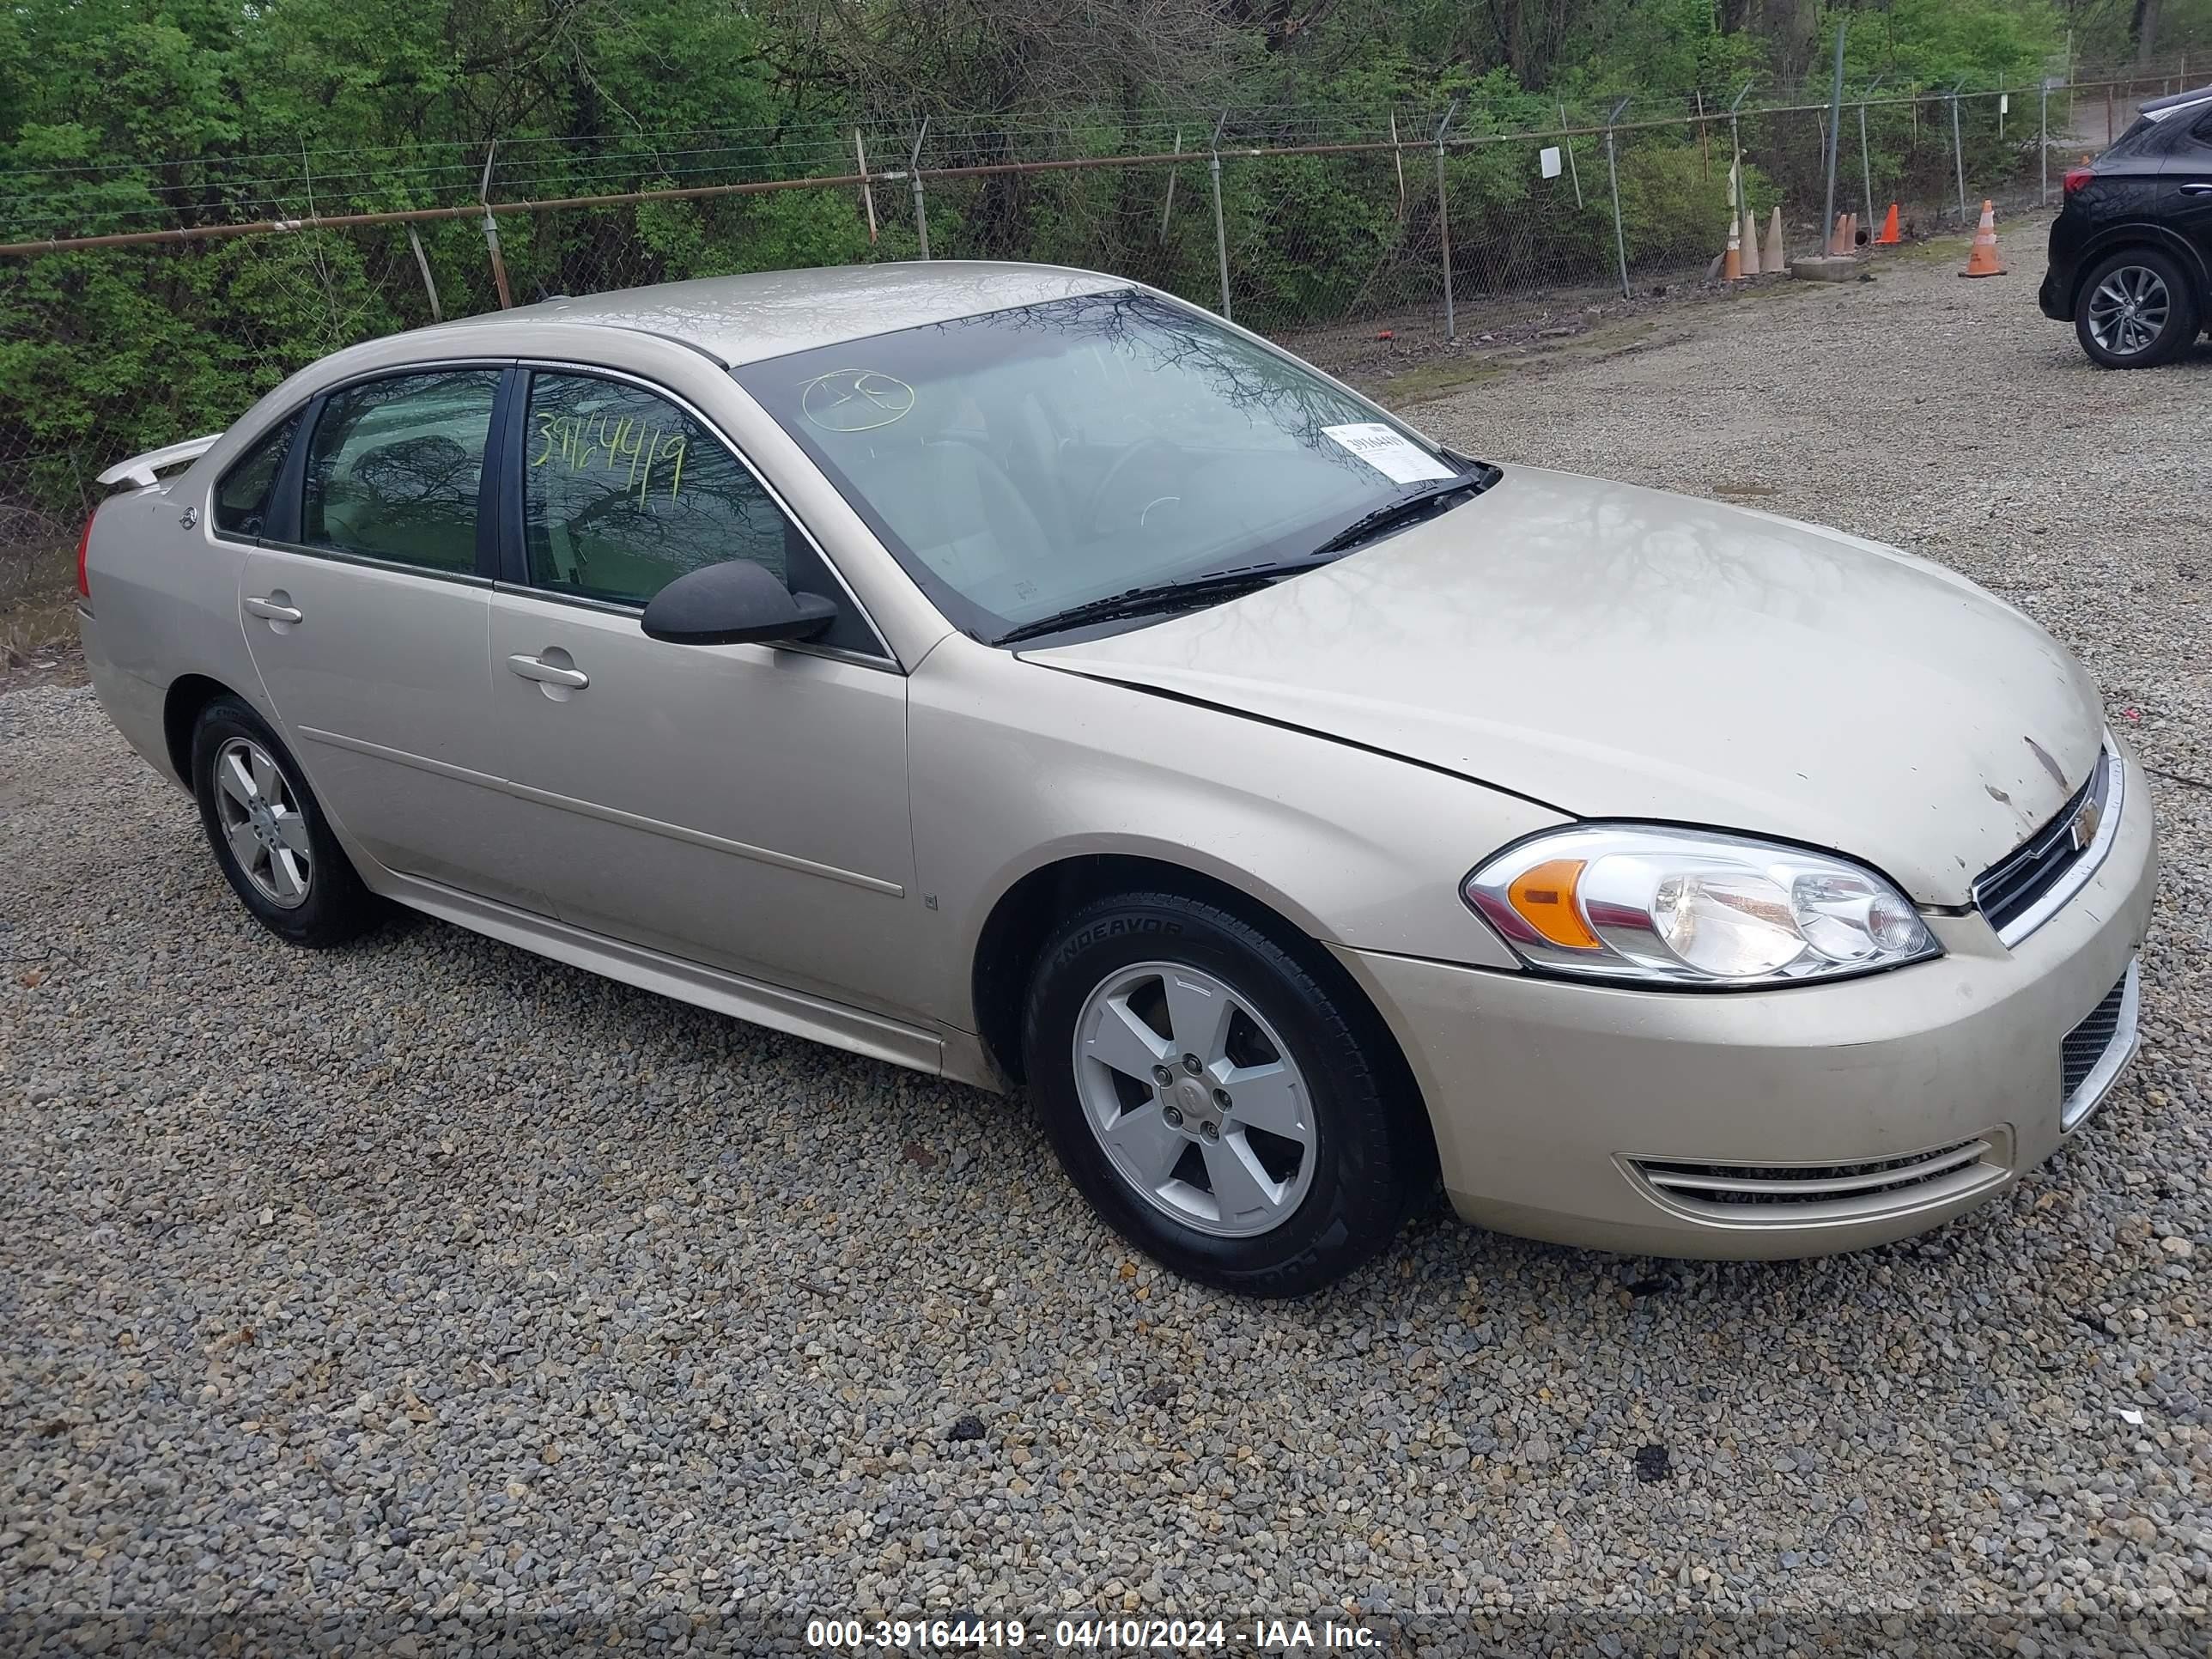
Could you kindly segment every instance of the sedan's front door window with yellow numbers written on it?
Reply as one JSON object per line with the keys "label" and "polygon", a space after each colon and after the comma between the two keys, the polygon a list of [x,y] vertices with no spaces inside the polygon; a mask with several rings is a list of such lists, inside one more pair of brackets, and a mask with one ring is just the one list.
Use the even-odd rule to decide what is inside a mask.
{"label": "sedan's front door window with yellow numbers written on it", "polygon": [[522,542],[533,586],[644,604],[726,560],[787,584],[792,538],[745,465],[666,398],[586,374],[531,376]]}

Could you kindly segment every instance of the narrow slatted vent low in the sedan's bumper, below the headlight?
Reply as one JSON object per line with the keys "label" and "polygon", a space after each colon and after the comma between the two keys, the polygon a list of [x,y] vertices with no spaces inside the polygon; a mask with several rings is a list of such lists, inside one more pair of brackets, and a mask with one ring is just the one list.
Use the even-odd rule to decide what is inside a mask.
{"label": "narrow slatted vent low in the sedan's bumper, below the headlight", "polygon": [[1630,1159],[1677,1208],[1732,1223],[1876,1217],[2002,1181],[2002,1133],[1865,1164],[1686,1164]]}

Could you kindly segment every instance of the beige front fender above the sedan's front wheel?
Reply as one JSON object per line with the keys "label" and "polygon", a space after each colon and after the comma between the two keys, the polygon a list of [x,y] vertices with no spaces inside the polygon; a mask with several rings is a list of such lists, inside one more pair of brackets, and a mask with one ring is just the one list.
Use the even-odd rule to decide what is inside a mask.
{"label": "beige front fender above the sedan's front wheel", "polygon": [[1349,949],[1515,967],[1458,898],[1551,807],[1312,732],[947,639],[909,692],[916,874],[945,927],[916,978],[975,1029],[998,900],[1064,858],[1179,865]]}

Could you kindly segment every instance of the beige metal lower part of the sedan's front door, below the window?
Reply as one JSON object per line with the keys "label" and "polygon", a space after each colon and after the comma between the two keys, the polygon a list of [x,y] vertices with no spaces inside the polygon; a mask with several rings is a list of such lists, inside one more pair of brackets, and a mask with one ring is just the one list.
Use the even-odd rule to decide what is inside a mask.
{"label": "beige metal lower part of the sedan's front door, below the window", "polygon": [[887,1013],[918,1004],[905,677],[670,646],[630,613],[507,588],[489,655],[502,765],[531,807],[524,869],[562,920]]}

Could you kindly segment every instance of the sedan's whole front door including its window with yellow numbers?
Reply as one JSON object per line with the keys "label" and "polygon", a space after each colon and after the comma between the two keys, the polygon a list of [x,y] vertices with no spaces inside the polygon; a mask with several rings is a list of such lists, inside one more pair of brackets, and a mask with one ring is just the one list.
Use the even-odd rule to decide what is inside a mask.
{"label": "sedan's whole front door including its window with yellow numbers", "polygon": [[675,577],[752,560],[838,604],[818,644],[880,650],[814,544],[697,411],[619,376],[531,369],[504,465],[491,708],[529,880],[595,933],[911,1011],[905,677],[639,628]]}

